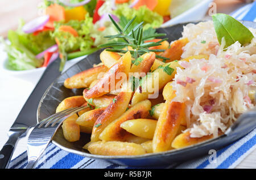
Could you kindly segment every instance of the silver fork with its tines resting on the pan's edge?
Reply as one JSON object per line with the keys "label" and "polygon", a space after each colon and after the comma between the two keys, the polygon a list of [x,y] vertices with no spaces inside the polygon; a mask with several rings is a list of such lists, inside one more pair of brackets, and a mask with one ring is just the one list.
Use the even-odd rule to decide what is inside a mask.
{"label": "silver fork with its tines resting on the pan's edge", "polygon": [[30,132],[27,140],[27,169],[32,169],[39,157],[51,142],[53,135],[60,127],[61,123],[71,115],[80,112],[80,110],[88,108],[88,106],[69,108],[59,113],[53,114],[43,121],[39,122]]}

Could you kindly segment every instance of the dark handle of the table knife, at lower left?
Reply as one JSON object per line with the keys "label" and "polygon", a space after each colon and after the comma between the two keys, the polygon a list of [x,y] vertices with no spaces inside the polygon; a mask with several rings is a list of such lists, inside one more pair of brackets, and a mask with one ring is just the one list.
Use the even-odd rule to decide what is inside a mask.
{"label": "dark handle of the table knife, at lower left", "polygon": [[0,151],[0,169],[8,168],[9,161],[11,159],[11,156],[13,155],[15,144],[19,136],[24,132],[24,130],[9,132],[11,132],[11,135],[9,136],[9,139],[7,140],[5,145],[3,145],[3,148]]}

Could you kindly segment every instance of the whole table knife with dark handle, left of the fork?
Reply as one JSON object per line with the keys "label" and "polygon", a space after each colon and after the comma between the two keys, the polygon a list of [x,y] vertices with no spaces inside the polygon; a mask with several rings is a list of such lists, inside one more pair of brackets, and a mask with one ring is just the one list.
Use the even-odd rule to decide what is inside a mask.
{"label": "whole table knife with dark handle, left of the fork", "polygon": [[22,110],[20,110],[18,117],[10,127],[8,132],[9,139],[0,151],[0,169],[8,168],[16,142],[19,138],[26,136],[28,128],[36,125],[36,113],[39,102],[49,85],[61,74],[59,67],[60,58],[57,58],[47,66],[39,82],[23,105]]}

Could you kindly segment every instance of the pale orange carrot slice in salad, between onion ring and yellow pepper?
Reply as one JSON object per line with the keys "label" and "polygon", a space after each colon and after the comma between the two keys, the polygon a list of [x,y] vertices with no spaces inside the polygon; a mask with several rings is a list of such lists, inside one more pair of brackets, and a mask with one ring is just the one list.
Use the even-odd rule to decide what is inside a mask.
{"label": "pale orange carrot slice in salad, between onion ring and yellow pepper", "polygon": [[50,28],[54,27],[54,22],[65,20],[65,8],[56,3],[46,8],[46,14],[49,15],[49,21],[46,26]]}

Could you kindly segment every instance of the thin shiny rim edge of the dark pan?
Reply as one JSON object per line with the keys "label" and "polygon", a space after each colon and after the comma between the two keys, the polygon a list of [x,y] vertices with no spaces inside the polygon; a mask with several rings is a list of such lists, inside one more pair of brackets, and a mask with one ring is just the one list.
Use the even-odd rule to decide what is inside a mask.
{"label": "thin shiny rim edge of the dark pan", "polygon": [[[254,25],[256,27],[256,23],[254,23],[254,22],[246,22],[246,21],[241,21],[241,22],[243,24],[245,24],[246,26],[248,26],[248,27],[251,27],[252,25]],[[188,22],[188,23],[199,23],[199,22]],[[180,25],[183,26],[183,25],[188,24],[188,23],[175,24],[175,25],[172,25],[171,27],[180,26]],[[167,29],[167,28],[170,28],[170,27],[159,28],[159,29],[162,29],[163,31],[165,31],[164,29]],[[83,60],[84,59],[81,59],[81,61],[83,61]],[[77,62],[77,63],[79,63],[79,62]],[[74,64],[73,66],[76,66],[76,64]],[[69,67],[65,72],[67,72],[73,66]],[[56,80],[59,79],[61,76],[62,76],[62,74],[58,78],[56,78]],[[46,97],[47,93],[49,92],[49,90],[51,89],[51,87],[52,87],[52,85],[54,83],[55,82],[51,83],[51,85],[47,88],[46,92],[44,93],[44,95],[42,96],[42,98],[40,100],[40,103],[39,103],[39,106],[38,106],[38,112],[37,112],[37,121],[38,122],[39,122],[39,115],[40,115],[40,108],[41,108],[41,105],[42,105],[42,101]],[[249,130],[247,129],[246,131],[243,131],[239,135],[233,137],[232,140],[229,140],[227,143],[223,143],[221,145],[218,145],[216,150],[221,149],[223,147],[226,147],[227,145],[233,143],[234,141],[236,141],[236,140],[240,139],[241,137],[245,136],[246,134],[248,134],[251,130],[253,130],[253,128],[250,128]],[[113,160],[115,160],[115,159],[131,159],[132,160],[134,158],[140,159],[140,158],[145,158],[145,157],[156,157],[157,158],[157,157],[162,157],[162,156],[165,156],[165,155],[168,155],[168,156],[175,156],[175,155],[178,155],[178,154],[179,155],[181,155],[181,154],[185,155],[186,152],[195,151],[197,148],[208,147],[208,145],[214,144],[216,142],[220,142],[220,140],[224,139],[225,137],[227,137],[227,135],[223,134],[223,135],[220,135],[220,136],[218,136],[216,138],[205,140],[204,142],[197,143],[195,145],[189,145],[188,147],[185,147],[185,148],[172,149],[170,151],[159,152],[159,153],[147,153],[147,154],[144,154],[144,155],[137,155],[137,156],[102,156],[102,155],[93,155],[93,154],[90,154],[90,153],[87,153],[87,152],[84,152],[84,151],[77,151],[75,149],[67,148],[67,147],[65,147],[63,145],[60,145],[55,140],[52,140],[52,143],[55,144],[57,147],[63,149],[64,151],[75,153],[77,155],[81,155],[81,156],[84,156],[84,157],[89,157],[89,158],[94,158],[94,159],[102,159],[102,160],[112,160],[112,159]],[[119,164],[119,163],[117,163],[117,164]]]}

